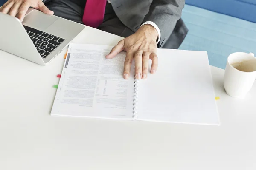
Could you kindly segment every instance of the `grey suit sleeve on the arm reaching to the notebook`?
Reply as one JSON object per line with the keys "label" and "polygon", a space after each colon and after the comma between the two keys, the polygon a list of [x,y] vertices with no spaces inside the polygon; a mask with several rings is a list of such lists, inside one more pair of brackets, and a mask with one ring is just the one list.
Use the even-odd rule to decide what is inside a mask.
{"label": "grey suit sleeve on the arm reaching to the notebook", "polygon": [[155,23],[161,32],[158,47],[160,48],[172,34],[177,20],[181,17],[185,0],[153,0],[148,14],[142,23],[151,21]]}

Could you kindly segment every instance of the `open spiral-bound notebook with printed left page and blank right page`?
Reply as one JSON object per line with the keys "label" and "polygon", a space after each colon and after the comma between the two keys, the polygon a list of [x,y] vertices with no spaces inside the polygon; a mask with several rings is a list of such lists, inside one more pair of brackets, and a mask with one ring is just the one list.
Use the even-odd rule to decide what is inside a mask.
{"label": "open spiral-bound notebook with printed left page and blank right page", "polygon": [[126,53],[105,59],[112,48],[69,46],[51,115],[219,124],[207,52],[158,49],[156,74],[125,80]]}

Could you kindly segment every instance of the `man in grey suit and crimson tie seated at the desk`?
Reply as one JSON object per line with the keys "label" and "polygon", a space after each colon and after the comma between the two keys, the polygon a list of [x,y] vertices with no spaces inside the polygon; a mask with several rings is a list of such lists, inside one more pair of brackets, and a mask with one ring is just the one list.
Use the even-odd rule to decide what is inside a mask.
{"label": "man in grey suit and crimson tie seated at the desk", "polygon": [[151,74],[157,71],[157,48],[177,49],[188,30],[181,20],[185,0],[8,0],[0,12],[21,21],[29,7],[87,26],[125,37],[106,56],[111,59],[127,51],[123,77],[146,79],[148,61]]}

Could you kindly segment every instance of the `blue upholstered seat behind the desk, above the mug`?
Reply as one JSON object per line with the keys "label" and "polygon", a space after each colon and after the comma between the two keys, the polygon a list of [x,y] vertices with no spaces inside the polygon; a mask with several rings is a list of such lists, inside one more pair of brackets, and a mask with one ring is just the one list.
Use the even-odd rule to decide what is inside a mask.
{"label": "blue upholstered seat behind the desk, above the mug", "polygon": [[229,54],[256,54],[256,0],[186,0],[189,29],[179,49],[207,51],[209,64],[224,69]]}

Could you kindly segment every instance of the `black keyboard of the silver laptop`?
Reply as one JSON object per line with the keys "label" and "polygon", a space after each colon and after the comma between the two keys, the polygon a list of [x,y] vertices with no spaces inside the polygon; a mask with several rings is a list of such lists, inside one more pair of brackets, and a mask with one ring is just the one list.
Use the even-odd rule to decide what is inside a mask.
{"label": "black keyboard of the silver laptop", "polygon": [[62,42],[65,41],[61,37],[57,37],[55,35],[48,34],[28,26],[24,26],[24,28],[34,43],[35,48],[43,58],[49,56],[52,51],[54,51],[59,45],[61,45]]}

